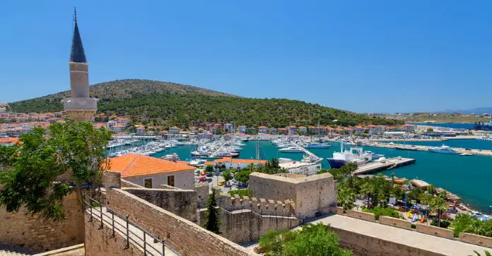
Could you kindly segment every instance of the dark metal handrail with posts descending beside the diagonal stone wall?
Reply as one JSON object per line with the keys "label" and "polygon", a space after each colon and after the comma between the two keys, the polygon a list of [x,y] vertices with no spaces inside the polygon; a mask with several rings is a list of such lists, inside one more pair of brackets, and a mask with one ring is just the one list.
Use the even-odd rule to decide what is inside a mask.
{"label": "dark metal handrail with posts descending beside the diagonal stone wall", "polygon": [[[88,199],[88,200],[87,200]],[[126,248],[129,248],[129,243],[130,241],[134,242],[134,245],[138,246],[142,250],[144,250],[144,255],[154,255],[153,251],[157,252],[158,255],[165,256],[165,248],[168,248],[172,252],[175,252],[177,255],[180,255],[178,252],[174,250],[174,248],[171,248],[169,245],[165,243],[165,240],[161,240],[158,238],[157,235],[151,234],[149,231],[147,231],[145,228],[142,228],[141,226],[137,225],[133,221],[129,221],[129,216],[123,216],[122,214],[117,213],[116,211],[110,209],[109,207],[105,206],[104,204],[98,202],[97,200],[93,199],[92,197],[89,197],[85,192],[83,193],[83,206],[84,206],[84,213],[85,214],[90,214],[89,221],[93,221],[93,216],[96,216],[100,218],[101,221],[101,226],[100,229],[103,228],[104,223],[107,224],[107,226],[110,226],[112,228],[112,235],[110,238],[115,237],[115,231],[119,231],[119,233],[122,233],[127,236],[127,246]],[[95,205],[94,205],[95,204]],[[102,207],[106,208],[106,211],[102,211]],[[110,214],[107,214],[110,213]],[[125,224],[123,225],[122,223],[115,222],[115,216],[119,219],[124,219]],[[107,217],[110,219],[108,221],[104,217]],[[130,230],[129,225],[134,226],[134,228],[137,228],[139,231],[143,233],[143,235],[134,233],[133,231]],[[131,233],[131,235],[130,235]],[[143,238],[141,238],[143,236]],[[135,240],[134,238],[137,238]],[[151,238],[151,240],[156,241],[155,243],[149,243],[148,238]],[[141,245],[141,243],[143,245]],[[161,248],[156,248],[154,244],[160,243],[162,245]],[[149,251],[152,250],[151,251]]]}

